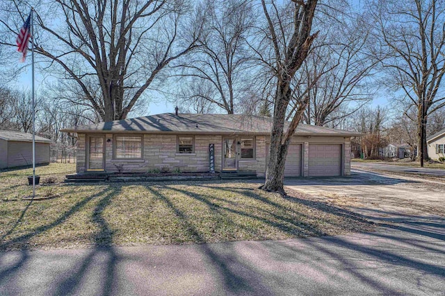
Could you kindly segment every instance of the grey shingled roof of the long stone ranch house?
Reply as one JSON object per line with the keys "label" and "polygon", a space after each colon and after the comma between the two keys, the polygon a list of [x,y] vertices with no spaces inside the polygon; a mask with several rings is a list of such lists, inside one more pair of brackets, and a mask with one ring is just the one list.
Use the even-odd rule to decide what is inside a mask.
{"label": "grey shingled roof of the long stone ranch house", "polygon": [[[285,123],[285,128],[289,122]],[[241,114],[179,114],[163,113],[135,119],[109,121],[65,128],[62,132],[152,132],[177,134],[270,134],[272,119]],[[299,124],[296,135],[361,136],[357,132]]]}

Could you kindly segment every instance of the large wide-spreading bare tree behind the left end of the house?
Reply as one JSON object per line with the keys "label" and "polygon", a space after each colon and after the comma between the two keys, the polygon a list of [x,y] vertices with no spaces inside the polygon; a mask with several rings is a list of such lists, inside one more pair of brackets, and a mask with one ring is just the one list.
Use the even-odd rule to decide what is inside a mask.
{"label": "large wide-spreading bare tree behind the left end of the house", "polygon": [[[41,62],[54,76],[72,80],[83,94],[81,103],[88,102],[102,121],[126,118],[165,68],[197,47],[204,19],[185,0],[30,4],[35,4],[33,42]],[[19,0],[10,1],[8,14],[14,8],[15,17],[28,10]],[[6,12],[0,18],[0,44],[15,46],[11,40],[21,24]]]}

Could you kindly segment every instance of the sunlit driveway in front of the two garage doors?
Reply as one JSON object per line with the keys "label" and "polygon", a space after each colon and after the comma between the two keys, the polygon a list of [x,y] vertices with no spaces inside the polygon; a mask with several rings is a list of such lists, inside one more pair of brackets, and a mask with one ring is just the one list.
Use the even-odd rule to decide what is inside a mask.
{"label": "sunlit driveway in front of the two garage doors", "polygon": [[445,216],[444,182],[355,169],[348,177],[288,179],[285,184],[373,220]]}

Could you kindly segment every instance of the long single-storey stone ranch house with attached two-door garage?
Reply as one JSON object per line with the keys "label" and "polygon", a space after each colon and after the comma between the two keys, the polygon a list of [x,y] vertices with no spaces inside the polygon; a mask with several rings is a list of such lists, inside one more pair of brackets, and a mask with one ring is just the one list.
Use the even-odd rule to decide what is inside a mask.
{"label": "long single-storey stone ranch house with attached two-door garage", "polygon": [[[289,123],[286,123],[285,128]],[[209,146],[220,171],[266,172],[272,119],[236,114],[157,114],[65,128],[77,134],[77,172],[209,172]],[[298,125],[286,176],[350,175],[356,132]]]}

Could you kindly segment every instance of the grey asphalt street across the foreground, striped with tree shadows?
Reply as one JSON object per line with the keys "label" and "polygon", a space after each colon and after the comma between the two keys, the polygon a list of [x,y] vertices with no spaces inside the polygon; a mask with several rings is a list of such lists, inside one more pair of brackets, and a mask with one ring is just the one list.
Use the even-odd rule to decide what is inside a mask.
{"label": "grey asphalt street across the foreground, striped with tree shadows", "polygon": [[444,295],[444,221],[369,234],[0,253],[0,295]]}

